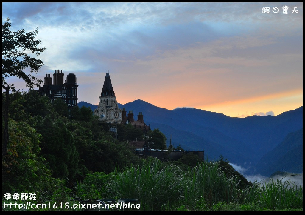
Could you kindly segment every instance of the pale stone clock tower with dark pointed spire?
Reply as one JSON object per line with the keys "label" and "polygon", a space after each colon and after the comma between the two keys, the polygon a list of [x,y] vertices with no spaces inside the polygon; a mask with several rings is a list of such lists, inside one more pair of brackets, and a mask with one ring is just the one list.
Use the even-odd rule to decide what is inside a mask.
{"label": "pale stone clock tower with dark pointed spire", "polygon": [[117,105],[116,96],[114,96],[110,75],[107,72],[101,96],[99,97],[99,106],[94,111],[94,115],[99,120],[108,123],[120,123],[122,121],[122,110]]}

